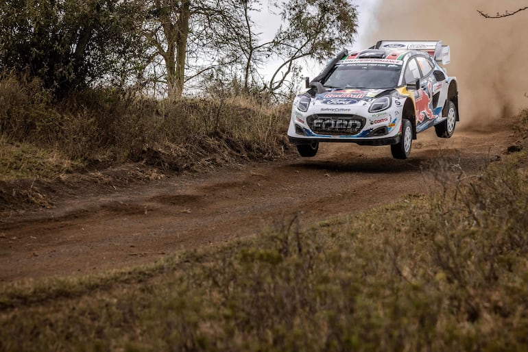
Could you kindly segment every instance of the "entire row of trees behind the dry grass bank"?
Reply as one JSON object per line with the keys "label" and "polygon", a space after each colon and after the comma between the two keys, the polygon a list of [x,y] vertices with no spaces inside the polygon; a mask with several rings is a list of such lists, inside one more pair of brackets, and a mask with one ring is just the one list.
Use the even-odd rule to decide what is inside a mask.
{"label": "entire row of trees behind the dry grass bank", "polygon": [[[268,41],[252,19],[264,7],[280,18]],[[356,25],[346,0],[5,0],[0,72],[38,78],[58,99],[95,86],[163,97],[217,84],[278,96],[295,88],[302,59],[352,45]]]}

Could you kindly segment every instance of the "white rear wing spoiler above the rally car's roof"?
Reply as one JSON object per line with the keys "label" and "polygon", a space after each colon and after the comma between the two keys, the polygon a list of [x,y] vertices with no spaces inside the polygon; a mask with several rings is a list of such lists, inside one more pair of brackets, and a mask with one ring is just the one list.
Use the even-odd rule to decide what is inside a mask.
{"label": "white rear wing spoiler above the rally car's roof", "polygon": [[442,45],[442,40],[380,40],[372,49],[425,51],[439,64],[451,62],[451,50],[448,45]]}

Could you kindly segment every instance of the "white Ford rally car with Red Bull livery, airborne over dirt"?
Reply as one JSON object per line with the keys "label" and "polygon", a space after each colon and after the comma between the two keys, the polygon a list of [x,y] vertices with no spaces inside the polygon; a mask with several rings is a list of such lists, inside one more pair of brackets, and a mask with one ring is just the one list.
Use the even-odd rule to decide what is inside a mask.
{"label": "white Ford rally car with Red Bull livery, airborne over dirt", "polygon": [[[320,142],[390,144],[406,159],[416,134],[431,126],[449,138],[458,116],[458,87],[443,66],[450,61],[441,41],[379,41],[341,51],[293,101],[288,138],[311,157]],[[309,82],[309,83],[308,83]]]}

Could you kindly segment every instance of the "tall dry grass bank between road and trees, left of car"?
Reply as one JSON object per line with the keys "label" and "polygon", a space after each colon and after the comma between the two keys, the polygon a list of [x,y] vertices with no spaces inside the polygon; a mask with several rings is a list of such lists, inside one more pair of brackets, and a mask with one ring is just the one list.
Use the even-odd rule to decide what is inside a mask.
{"label": "tall dry grass bank between road and trees, left of car", "polygon": [[[53,177],[62,172],[58,164],[94,162],[145,161],[181,171],[208,164],[205,160],[215,155],[219,163],[272,159],[287,148],[289,107],[249,97],[156,100],[134,91],[97,89],[51,101],[39,81],[3,75],[0,106],[0,153],[12,161],[28,150],[46,154],[1,165],[3,179]],[[50,155],[58,159],[38,165]]]}

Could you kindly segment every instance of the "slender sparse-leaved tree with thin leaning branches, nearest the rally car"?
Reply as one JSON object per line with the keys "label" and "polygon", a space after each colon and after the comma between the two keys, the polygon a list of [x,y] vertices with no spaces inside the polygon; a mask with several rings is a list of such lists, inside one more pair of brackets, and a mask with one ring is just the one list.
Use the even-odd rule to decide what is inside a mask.
{"label": "slender sparse-leaved tree with thin leaning branches, nearest the rally car", "polygon": [[[326,60],[350,45],[357,27],[357,9],[346,0],[289,0],[273,4],[280,13],[282,24],[269,42],[259,42],[245,7],[245,30],[249,40],[240,47],[245,63],[242,65],[246,90],[260,79],[261,91],[274,95],[284,88],[291,75],[300,71],[299,60]],[[272,77],[264,81],[256,66],[270,58],[280,62]]]}

